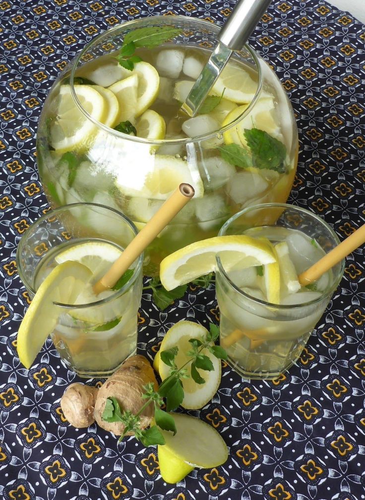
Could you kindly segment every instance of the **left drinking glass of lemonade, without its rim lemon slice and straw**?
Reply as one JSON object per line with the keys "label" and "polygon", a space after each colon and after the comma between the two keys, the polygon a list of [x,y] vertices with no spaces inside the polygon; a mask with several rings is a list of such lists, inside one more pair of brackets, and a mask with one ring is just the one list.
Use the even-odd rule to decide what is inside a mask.
{"label": "left drinking glass of lemonade, without its rim lemon slice and straw", "polygon": [[31,298],[52,269],[66,260],[77,260],[93,273],[76,304],[55,302],[59,316],[51,338],[61,359],[79,376],[107,377],[136,350],[143,254],[117,289],[97,297],[91,290],[136,234],[135,225],[122,213],[74,203],[48,211],[21,238],[17,265]]}

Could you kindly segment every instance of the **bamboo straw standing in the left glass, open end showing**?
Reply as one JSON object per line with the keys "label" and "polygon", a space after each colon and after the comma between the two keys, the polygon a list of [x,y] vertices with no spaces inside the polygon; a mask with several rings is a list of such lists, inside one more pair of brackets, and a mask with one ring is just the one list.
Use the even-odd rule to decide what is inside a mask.
{"label": "bamboo straw standing in the left glass, open end showing", "polygon": [[136,260],[138,255],[140,255],[157,234],[166,227],[170,220],[186,205],[194,194],[194,188],[190,184],[181,183],[175,189],[137,236],[132,239],[121,256],[112,264],[108,272],[95,283],[93,290],[96,295],[115,285],[132,262]]}

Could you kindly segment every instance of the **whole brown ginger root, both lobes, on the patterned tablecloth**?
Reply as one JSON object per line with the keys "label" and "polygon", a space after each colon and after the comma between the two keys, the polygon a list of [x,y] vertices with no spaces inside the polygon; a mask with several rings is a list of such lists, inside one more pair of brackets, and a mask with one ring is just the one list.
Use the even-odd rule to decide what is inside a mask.
{"label": "whole brown ginger root, both lobes, on the patterned tablecloth", "polygon": [[[115,397],[122,410],[137,413],[145,400],[143,387],[152,382],[154,389],[158,383],[148,359],[139,354],[131,356],[98,389],[83,383],[72,383],[61,397],[61,408],[65,417],[74,427],[87,427],[96,421],[100,427],[116,435],[123,434],[122,422],[107,422],[102,415],[108,397]],[[149,404],[140,415],[140,427],[148,427],[154,416],[153,404]]]}

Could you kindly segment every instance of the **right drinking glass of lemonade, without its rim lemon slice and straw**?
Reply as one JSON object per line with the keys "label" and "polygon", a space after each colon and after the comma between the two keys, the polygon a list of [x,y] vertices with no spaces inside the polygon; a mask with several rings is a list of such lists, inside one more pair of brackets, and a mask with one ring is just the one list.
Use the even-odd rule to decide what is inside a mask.
{"label": "right drinking glass of lemonade, without its rim lemon slice and straw", "polygon": [[[216,257],[216,294],[221,343],[229,364],[247,378],[276,378],[300,356],[337,287],[344,261],[315,283],[300,286],[297,275],[339,243],[333,229],[297,206],[265,203],[231,217],[219,235],[245,234],[268,243],[278,261],[226,272]],[[277,272],[279,271],[279,272]],[[270,303],[267,296],[276,296]]]}

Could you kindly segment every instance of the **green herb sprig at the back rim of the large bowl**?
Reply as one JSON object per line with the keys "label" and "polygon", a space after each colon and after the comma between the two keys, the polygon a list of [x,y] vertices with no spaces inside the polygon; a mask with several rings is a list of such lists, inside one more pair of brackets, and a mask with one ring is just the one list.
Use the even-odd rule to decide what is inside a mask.
{"label": "green herb sprig at the back rim of the large bowl", "polygon": [[118,62],[121,66],[132,71],[136,62],[142,59],[135,55],[137,47],[153,48],[161,43],[175,38],[182,29],[173,26],[146,26],[127,33],[118,54]]}

